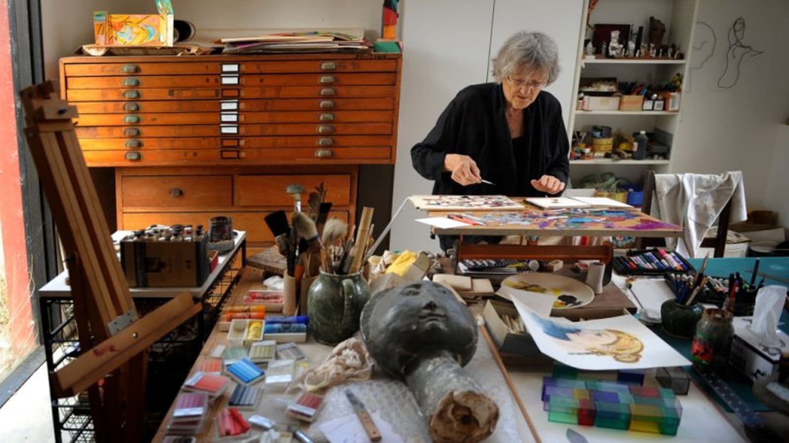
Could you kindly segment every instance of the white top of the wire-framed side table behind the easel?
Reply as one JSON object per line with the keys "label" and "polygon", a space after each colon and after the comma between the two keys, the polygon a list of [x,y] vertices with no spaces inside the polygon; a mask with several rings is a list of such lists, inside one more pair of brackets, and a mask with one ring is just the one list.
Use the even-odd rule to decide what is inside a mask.
{"label": "white top of the wire-framed side table behind the easel", "polygon": [[[222,272],[222,267],[224,266],[227,259],[232,257],[237,251],[238,248],[241,248],[241,245],[246,241],[246,231],[235,231],[237,235],[234,239],[233,249],[228,252],[227,254],[219,255],[218,262],[214,270],[211,271],[211,274],[208,274],[208,277],[205,279],[205,282],[200,287],[192,287],[192,288],[129,288],[129,291],[132,292],[133,297],[150,297],[150,298],[162,298],[162,297],[174,297],[181,294],[181,292],[190,292],[193,297],[200,297],[211,285],[214,284],[219,274]],[[112,234],[113,243],[120,241],[123,237],[133,233],[133,231],[115,231]],[[39,289],[39,296],[44,298],[62,298],[62,297],[70,297],[71,296],[71,286],[66,285],[65,279],[69,277],[69,270],[64,270],[62,273],[58,274],[57,277],[54,277],[52,280],[48,281],[46,285],[43,285],[41,289]]]}

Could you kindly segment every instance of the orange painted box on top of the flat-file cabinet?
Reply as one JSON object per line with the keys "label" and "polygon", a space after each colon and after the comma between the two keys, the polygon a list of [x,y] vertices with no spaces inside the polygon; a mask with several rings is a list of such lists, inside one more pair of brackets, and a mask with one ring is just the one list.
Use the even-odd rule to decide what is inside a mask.
{"label": "orange painted box on top of the flat-file cabinet", "polygon": [[172,47],[174,16],[170,0],[156,0],[158,14],[93,12],[93,36],[101,47]]}

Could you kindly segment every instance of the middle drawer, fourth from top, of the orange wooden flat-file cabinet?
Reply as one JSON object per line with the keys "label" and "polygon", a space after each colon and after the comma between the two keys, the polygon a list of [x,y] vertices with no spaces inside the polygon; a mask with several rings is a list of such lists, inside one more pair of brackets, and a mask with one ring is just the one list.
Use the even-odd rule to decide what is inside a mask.
{"label": "middle drawer, fourth from top, of the orange wooden flat-file cabinet", "polygon": [[284,99],[284,100],[185,100],[170,102],[78,102],[82,114],[193,113],[290,110],[391,110],[394,97],[377,99]]}

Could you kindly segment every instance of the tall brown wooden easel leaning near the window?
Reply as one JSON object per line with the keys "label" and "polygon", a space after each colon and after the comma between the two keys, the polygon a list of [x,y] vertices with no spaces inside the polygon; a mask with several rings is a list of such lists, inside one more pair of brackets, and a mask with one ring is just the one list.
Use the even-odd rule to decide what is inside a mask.
{"label": "tall brown wooden easel leaning near the window", "polygon": [[[140,441],[147,349],[200,312],[188,292],[138,318],[72,118],[51,82],[21,91],[25,135],[61,236],[80,338],[77,359],[50,373],[58,398],[85,390],[96,441]],[[99,389],[99,380],[103,384]]]}

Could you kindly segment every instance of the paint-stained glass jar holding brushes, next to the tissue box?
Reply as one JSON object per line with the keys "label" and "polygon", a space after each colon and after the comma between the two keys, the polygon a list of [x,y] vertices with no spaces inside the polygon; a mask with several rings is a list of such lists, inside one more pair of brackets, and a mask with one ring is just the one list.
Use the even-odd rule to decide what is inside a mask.
{"label": "paint-stained glass jar holding brushes, next to the tissue box", "polygon": [[690,359],[695,365],[726,368],[731,350],[731,339],[735,335],[731,312],[723,309],[707,309],[696,325]]}

